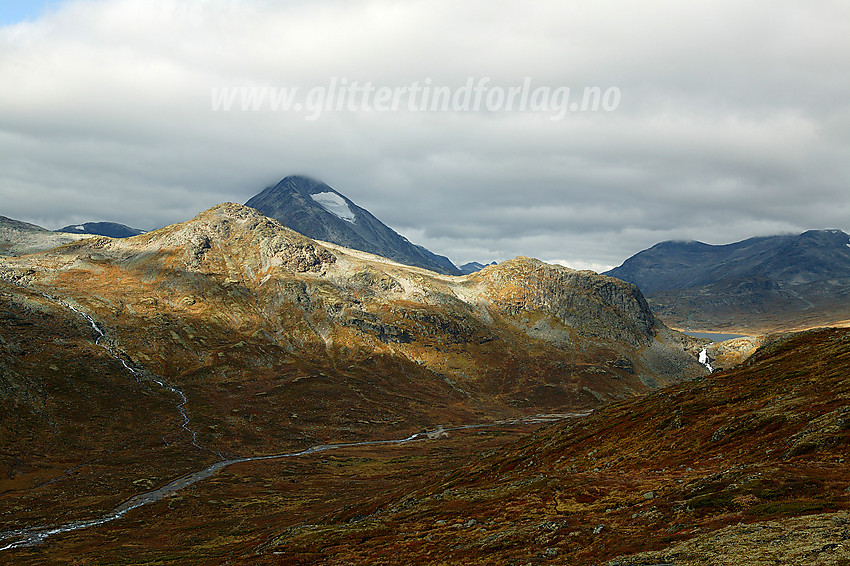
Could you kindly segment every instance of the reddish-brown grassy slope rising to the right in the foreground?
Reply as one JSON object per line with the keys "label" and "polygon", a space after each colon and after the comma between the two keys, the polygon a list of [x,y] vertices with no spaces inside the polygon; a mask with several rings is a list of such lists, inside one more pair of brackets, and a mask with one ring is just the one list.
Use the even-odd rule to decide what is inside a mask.
{"label": "reddish-brown grassy slope rising to the right in the foreground", "polygon": [[[273,550],[305,564],[847,564],[848,445],[850,331],[812,331]],[[628,558],[653,549],[667,551]]]}

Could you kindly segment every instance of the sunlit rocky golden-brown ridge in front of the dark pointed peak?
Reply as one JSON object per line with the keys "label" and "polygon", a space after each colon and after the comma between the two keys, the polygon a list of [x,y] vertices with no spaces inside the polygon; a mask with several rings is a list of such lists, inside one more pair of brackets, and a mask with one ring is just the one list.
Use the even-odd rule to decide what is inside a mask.
{"label": "sunlit rocky golden-brown ridge in front of the dark pointed peak", "polygon": [[[363,257],[368,256],[327,248],[250,208],[226,204],[181,225],[126,240],[92,238],[21,264],[35,269],[37,275],[27,276],[37,278],[34,284],[79,294],[77,300],[90,294],[89,301],[136,309],[135,292],[151,293],[146,300],[178,318],[226,318],[238,305],[235,315],[251,311],[251,324],[287,347],[333,355],[338,343],[357,344],[472,383],[503,379],[504,360],[495,360],[516,347],[547,351],[533,362],[545,374],[564,373],[558,364],[575,368],[576,351],[609,352],[611,364],[631,358],[632,374],[616,365],[609,371],[622,373],[635,392],[643,388],[638,378],[655,383],[662,374],[693,375],[681,338],[655,320],[634,286],[615,279],[527,258],[446,278]],[[107,273],[112,275],[104,278]],[[126,282],[122,290],[111,289],[113,277]],[[236,305],[202,299],[221,294],[238,297]],[[284,320],[286,312],[294,316]],[[237,328],[246,324],[239,316],[232,320]],[[527,355],[516,353],[519,359]],[[682,367],[659,371],[665,360]],[[536,387],[562,400],[574,396],[555,383]]]}

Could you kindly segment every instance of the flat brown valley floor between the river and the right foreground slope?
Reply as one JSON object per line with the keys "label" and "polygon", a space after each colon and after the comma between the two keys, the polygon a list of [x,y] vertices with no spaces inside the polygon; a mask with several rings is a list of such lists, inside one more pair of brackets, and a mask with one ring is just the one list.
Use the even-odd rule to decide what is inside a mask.
{"label": "flat brown valley floor between the river and the right foreground slope", "polygon": [[[333,560],[332,549],[290,549],[285,541],[332,525],[391,528],[381,520],[382,514],[403,508],[418,489],[444,481],[482,451],[516,441],[539,426],[468,428],[422,442],[355,446],[234,464],[116,521],[7,550],[0,553],[0,563],[309,564]],[[73,490],[73,483],[69,479],[67,489]]]}

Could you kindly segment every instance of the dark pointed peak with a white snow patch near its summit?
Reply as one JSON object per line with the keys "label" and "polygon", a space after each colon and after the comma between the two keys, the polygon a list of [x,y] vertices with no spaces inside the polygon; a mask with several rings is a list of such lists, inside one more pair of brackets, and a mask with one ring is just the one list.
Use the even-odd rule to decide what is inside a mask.
{"label": "dark pointed peak with a white snow patch near its summit", "polygon": [[448,258],[411,243],[368,210],[316,179],[286,177],[245,204],[308,238],[437,273],[462,274]]}

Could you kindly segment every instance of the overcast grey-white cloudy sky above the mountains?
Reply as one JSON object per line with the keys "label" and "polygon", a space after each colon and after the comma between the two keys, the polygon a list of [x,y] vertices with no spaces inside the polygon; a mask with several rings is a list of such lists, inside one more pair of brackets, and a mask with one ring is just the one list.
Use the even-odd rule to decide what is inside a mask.
{"label": "overcast grey-white cloudy sky above the mountains", "polygon": [[846,0],[12,1],[0,25],[0,214],[47,228],[158,228],[298,173],[458,264],[850,231]]}

